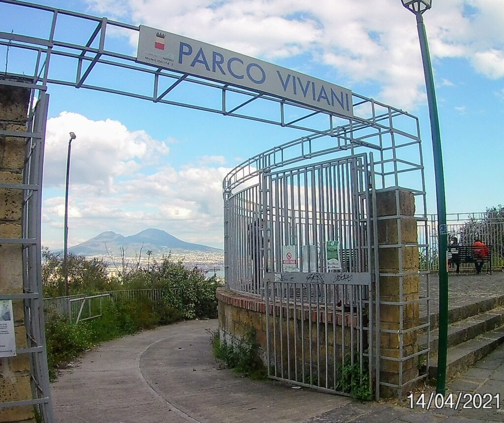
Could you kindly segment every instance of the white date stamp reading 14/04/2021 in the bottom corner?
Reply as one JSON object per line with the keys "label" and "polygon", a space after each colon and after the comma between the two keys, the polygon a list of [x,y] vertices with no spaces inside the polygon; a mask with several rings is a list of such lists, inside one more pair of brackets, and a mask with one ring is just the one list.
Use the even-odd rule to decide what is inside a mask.
{"label": "white date stamp reading 14/04/2021 in the bottom corner", "polygon": [[423,410],[451,408],[464,409],[499,409],[500,394],[458,392],[448,395],[436,394],[435,392],[421,393],[416,398],[413,393],[407,397],[410,408]]}

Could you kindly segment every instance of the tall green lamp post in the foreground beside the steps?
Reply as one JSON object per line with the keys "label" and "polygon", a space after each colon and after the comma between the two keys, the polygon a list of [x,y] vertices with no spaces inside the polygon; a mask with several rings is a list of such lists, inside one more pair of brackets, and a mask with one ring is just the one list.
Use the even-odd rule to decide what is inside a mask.
{"label": "tall green lamp post in the foreground beside the steps", "polygon": [[423,25],[422,14],[431,8],[432,0],[401,0],[403,6],[416,15],[418,38],[422,53],[423,72],[429,107],[430,132],[432,136],[432,153],[434,156],[434,176],[437,197],[437,223],[439,246],[439,346],[437,354],[436,393],[445,394],[446,362],[448,350],[448,269],[446,252],[448,248],[448,231],[446,227],[445,176],[443,174],[443,154],[441,151],[441,135],[439,134],[439,118],[437,115],[434,78],[430,64],[427,34]]}

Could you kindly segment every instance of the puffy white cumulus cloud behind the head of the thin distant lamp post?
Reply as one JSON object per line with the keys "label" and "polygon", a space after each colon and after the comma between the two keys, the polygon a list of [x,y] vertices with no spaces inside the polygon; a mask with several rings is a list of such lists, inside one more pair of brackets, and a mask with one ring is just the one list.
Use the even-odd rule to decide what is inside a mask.
{"label": "puffy white cumulus cloud behind the head of the thin distant lamp post", "polygon": [[72,141],[72,184],[89,184],[110,191],[114,178],[131,177],[169,153],[166,143],[143,130],[130,131],[115,120],[90,120],[78,113],[62,112],[47,121],[44,186],[65,183],[69,132]]}

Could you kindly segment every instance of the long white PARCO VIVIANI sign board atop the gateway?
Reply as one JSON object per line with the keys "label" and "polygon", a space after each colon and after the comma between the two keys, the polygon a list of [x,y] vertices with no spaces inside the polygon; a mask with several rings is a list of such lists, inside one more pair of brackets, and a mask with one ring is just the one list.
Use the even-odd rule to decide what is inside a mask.
{"label": "long white PARCO VIVIANI sign board atop the gateway", "polygon": [[347,88],[144,25],[137,61],[353,117],[352,92]]}

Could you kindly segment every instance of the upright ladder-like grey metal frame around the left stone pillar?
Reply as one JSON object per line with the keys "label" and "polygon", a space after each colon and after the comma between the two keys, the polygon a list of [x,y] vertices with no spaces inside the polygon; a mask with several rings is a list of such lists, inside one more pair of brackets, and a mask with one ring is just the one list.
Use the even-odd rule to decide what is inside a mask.
{"label": "upright ladder-like grey metal frame around the left stone pillar", "polygon": [[[19,81],[0,80],[0,84],[15,85],[31,90],[26,131],[0,130],[0,136],[17,136],[26,139],[23,183],[0,183],[0,188],[23,191],[21,238],[0,238],[0,244],[22,245],[23,292],[21,294],[0,293],[0,299],[23,300],[27,347],[17,348],[16,352],[30,356],[32,387],[32,399],[3,402],[0,403],[0,407],[33,405],[38,409],[44,421],[53,421],[44,331],[40,247],[42,163],[49,95],[45,93],[45,87],[26,82],[25,78]],[[35,104],[36,92],[38,101]]]}

